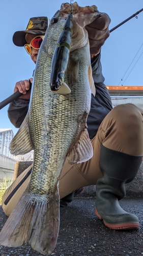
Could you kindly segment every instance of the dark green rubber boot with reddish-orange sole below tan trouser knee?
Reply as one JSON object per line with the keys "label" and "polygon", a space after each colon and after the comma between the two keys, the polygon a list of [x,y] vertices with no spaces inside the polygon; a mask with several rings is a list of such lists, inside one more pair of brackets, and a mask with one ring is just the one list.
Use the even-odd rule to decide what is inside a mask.
{"label": "dark green rubber boot with reddish-orange sole below tan trouser knee", "polygon": [[139,227],[138,218],[121,208],[119,200],[126,195],[125,183],[132,181],[142,156],[131,156],[101,145],[99,167],[103,177],[96,184],[95,213],[112,229]]}

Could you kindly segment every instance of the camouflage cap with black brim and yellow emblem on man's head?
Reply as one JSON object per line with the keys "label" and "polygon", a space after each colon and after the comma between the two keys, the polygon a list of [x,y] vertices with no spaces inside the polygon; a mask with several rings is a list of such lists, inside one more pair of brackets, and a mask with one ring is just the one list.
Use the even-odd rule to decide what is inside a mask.
{"label": "camouflage cap with black brim and yellow emblem on man's head", "polygon": [[50,19],[47,17],[30,18],[26,30],[16,31],[13,35],[13,42],[16,46],[24,46],[26,44],[25,35],[45,35]]}

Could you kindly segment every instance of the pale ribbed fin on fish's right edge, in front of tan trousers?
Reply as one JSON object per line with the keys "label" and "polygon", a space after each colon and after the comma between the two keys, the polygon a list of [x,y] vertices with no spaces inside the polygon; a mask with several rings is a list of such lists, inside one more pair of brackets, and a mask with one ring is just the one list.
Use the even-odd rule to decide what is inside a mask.
{"label": "pale ribbed fin on fish's right edge, in front of tan trousers", "polygon": [[93,157],[93,146],[89,138],[88,130],[85,129],[75,146],[68,153],[67,159],[70,164],[82,163]]}

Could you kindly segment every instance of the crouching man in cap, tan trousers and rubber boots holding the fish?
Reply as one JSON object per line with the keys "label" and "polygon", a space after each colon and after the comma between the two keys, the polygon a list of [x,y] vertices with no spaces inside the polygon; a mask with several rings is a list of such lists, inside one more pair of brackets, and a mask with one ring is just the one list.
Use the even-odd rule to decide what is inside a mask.
{"label": "crouching man in cap, tan trousers and rubber boots holding the fish", "polygon": [[[47,17],[32,17],[26,30],[13,35],[14,44],[24,47],[35,64],[49,24]],[[103,219],[104,224],[112,229],[136,229],[139,227],[137,216],[123,210],[119,200],[125,197],[125,183],[135,178],[142,161],[143,110],[129,103],[112,108],[100,61],[101,47],[109,36],[109,24],[109,16],[100,12],[91,24],[85,26],[94,80],[91,110],[87,119],[93,156],[88,161],[74,164],[65,160],[59,183],[60,205],[67,206],[84,186],[96,185],[95,213]],[[15,84],[14,92],[19,91],[23,95],[10,103],[8,116],[17,128],[27,114],[32,83],[33,78],[30,78]],[[24,170],[7,189],[2,201],[7,216],[27,187],[31,172],[32,166]]]}

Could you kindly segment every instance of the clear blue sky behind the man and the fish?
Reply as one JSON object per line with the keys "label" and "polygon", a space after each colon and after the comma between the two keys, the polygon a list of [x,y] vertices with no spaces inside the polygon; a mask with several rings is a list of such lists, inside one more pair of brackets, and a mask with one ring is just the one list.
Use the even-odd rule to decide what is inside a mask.
{"label": "clear blue sky behind the man and the fish", "polygon": [[[24,48],[16,47],[13,44],[12,36],[14,32],[25,30],[31,17],[48,16],[51,18],[60,9],[62,3],[64,1],[60,0],[0,1],[0,102],[13,93],[17,81],[32,77],[35,69],[34,63]],[[142,0],[79,0],[77,3],[79,6],[96,5],[100,12],[107,13],[111,18],[110,29],[143,8]],[[125,75],[122,82],[123,85],[143,86],[143,54],[141,55],[143,51],[143,11],[137,16],[137,19],[133,17],[126,24],[111,32],[102,47],[101,61],[106,85],[121,85],[121,78]],[[129,70],[126,73],[128,68]],[[124,82],[125,79],[126,81]],[[0,110],[0,129],[11,128],[16,134],[18,129],[9,121],[7,109],[8,106],[5,106],[4,109]]]}

